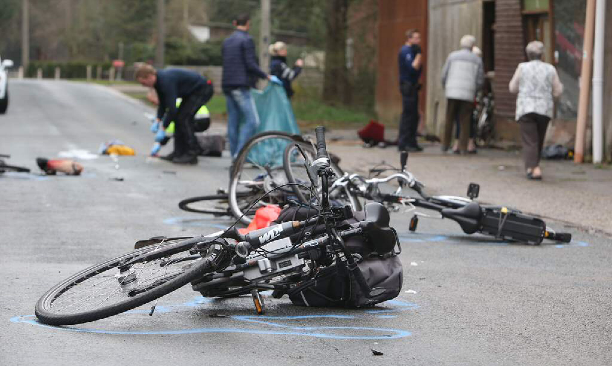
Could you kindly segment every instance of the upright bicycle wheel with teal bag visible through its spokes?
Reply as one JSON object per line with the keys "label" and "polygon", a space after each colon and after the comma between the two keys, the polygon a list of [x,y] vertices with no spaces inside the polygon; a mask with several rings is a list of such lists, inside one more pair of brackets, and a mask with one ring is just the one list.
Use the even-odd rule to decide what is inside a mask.
{"label": "upright bicycle wheel with teal bag visible through its spokes", "polygon": [[[234,217],[240,218],[245,225],[253,220],[259,207],[282,203],[288,195],[293,195],[289,187],[277,189],[256,203],[251,211],[245,212],[259,196],[287,183],[283,153],[288,144],[299,139],[299,136],[280,131],[259,133],[247,141],[234,160],[230,180],[230,209]],[[248,196],[252,200],[247,203]],[[239,198],[242,198],[242,202]]]}

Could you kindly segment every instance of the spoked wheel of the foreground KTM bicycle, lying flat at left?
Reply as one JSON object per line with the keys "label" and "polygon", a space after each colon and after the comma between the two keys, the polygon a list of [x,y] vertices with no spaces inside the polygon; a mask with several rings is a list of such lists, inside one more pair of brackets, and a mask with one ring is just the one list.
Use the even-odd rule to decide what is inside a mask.
{"label": "spoked wheel of the foreground KTM bicycle, lying flat at left", "polygon": [[[225,249],[209,242],[190,253],[200,239],[205,240],[162,241],[84,269],[40,297],[34,313],[41,323],[65,326],[108,318],[162,297],[217,269]],[[147,253],[151,260],[136,260],[119,271]]]}

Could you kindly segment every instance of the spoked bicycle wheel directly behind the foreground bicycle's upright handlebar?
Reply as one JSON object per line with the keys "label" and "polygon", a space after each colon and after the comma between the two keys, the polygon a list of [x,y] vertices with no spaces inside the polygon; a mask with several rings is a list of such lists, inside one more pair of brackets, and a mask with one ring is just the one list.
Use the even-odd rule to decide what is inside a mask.
{"label": "spoked bicycle wheel directly behind the foreground bicycle's upright handlebar", "polygon": [[[304,154],[311,162],[315,157],[315,149],[311,144],[308,143],[297,143],[299,144]],[[310,202],[312,200],[312,192],[310,190],[310,179],[308,179],[307,168],[305,165],[304,156],[299,152],[299,149],[295,146],[296,143],[289,144],[285,148],[283,155],[283,168],[287,176],[289,183],[299,183],[300,185],[291,185],[291,190],[297,196],[297,199],[301,202]],[[334,162],[330,162],[330,166],[335,173],[335,178],[330,179],[329,184],[332,185],[335,179],[343,176],[344,172]],[[330,200],[335,201],[335,204],[350,204],[353,209],[359,210],[360,204],[357,203],[357,199],[351,192],[345,189],[345,187],[337,187],[329,192]]]}

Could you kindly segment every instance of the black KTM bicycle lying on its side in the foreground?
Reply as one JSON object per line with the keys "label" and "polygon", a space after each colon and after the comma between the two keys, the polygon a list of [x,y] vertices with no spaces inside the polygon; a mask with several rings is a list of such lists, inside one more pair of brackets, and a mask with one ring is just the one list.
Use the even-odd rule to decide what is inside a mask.
{"label": "black KTM bicycle lying on its side in the foreground", "polygon": [[[329,177],[334,173],[323,129],[316,130],[316,138],[316,160],[310,170],[320,182],[320,186],[313,182],[321,192],[318,214],[244,235],[230,226],[206,236],[136,242],[132,252],[95,264],[53,286],[37,302],[35,315],[41,323],[57,326],[86,323],[144,305],[187,283],[204,296],[252,293],[260,312],[259,290],[272,289],[275,297],[291,296],[292,291],[323,280],[321,274],[333,277],[340,269],[351,279],[349,297],[354,306],[397,296],[401,274],[394,288],[386,288],[365,278],[360,269],[370,257],[376,261],[395,256],[399,242],[389,227],[389,212],[379,203],[367,204],[363,212],[330,204]],[[360,245],[347,244],[355,238]],[[151,314],[154,309],[155,305]]]}

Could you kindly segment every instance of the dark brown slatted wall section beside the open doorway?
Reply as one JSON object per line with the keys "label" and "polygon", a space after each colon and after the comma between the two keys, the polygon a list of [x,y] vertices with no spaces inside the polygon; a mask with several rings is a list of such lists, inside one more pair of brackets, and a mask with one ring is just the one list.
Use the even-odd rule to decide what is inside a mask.
{"label": "dark brown slatted wall section beside the open doorway", "polygon": [[523,24],[520,0],[495,2],[495,94],[496,116],[513,118],[517,96],[510,94],[508,83],[524,56]]}

